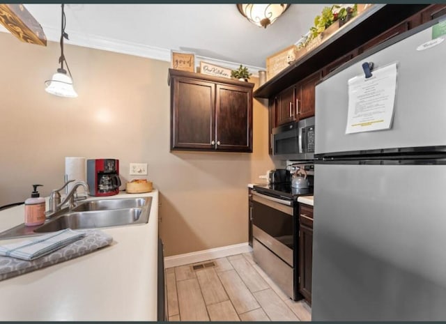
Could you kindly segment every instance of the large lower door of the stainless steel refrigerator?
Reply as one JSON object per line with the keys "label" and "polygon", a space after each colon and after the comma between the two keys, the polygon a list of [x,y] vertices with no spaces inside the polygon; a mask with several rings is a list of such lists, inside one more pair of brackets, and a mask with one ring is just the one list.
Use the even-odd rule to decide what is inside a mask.
{"label": "large lower door of the stainless steel refrigerator", "polygon": [[312,320],[444,321],[446,165],[314,172]]}

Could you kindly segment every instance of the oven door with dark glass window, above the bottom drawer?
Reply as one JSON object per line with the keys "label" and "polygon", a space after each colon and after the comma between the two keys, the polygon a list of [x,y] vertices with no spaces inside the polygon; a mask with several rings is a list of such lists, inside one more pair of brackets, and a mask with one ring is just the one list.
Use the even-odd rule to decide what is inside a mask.
{"label": "oven door with dark glass window, above the bottom drawer", "polygon": [[[279,258],[293,267],[295,248],[295,224],[293,202],[284,205],[263,194],[253,193],[253,236]],[[276,201],[272,201],[275,199]]]}

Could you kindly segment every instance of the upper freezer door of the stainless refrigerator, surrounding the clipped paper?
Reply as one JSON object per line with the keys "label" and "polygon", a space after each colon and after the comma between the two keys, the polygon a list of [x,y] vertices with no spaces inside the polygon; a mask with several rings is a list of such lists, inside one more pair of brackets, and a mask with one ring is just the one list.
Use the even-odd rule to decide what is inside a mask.
{"label": "upper freezer door of the stainless refrigerator, surrounding the clipped paper", "polygon": [[[316,154],[446,145],[446,41],[417,50],[432,39],[431,29],[386,47],[316,86]],[[364,62],[373,62],[375,68],[397,62],[393,125],[390,130],[346,134],[348,79],[364,75]]]}

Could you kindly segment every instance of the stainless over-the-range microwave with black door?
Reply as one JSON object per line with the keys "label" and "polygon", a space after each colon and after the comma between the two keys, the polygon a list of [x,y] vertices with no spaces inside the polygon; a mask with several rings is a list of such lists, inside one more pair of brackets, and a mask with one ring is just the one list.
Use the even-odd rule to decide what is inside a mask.
{"label": "stainless over-the-range microwave with black door", "polygon": [[272,155],[280,160],[314,160],[314,117],[273,128]]}

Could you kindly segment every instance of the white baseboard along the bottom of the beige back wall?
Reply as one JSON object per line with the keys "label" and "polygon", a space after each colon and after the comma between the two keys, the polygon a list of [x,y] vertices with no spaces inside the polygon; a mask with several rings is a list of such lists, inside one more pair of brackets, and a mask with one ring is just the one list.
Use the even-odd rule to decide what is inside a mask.
{"label": "white baseboard along the bottom of the beige back wall", "polygon": [[249,246],[248,242],[228,245],[226,247],[215,247],[214,249],[204,249],[197,252],[178,254],[176,256],[166,256],[164,258],[164,268],[178,267],[178,265],[224,258],[225,256],[246,252],[252,252],[252,247]]}

